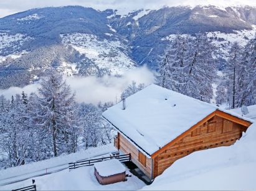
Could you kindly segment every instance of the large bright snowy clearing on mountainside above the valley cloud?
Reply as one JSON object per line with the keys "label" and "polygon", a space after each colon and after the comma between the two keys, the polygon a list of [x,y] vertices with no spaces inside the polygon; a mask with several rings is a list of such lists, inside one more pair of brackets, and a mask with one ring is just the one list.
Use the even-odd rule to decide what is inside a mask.
{"label": "large bright snowy clearing on mountainside above the valley cloud", "polygon": [[100,68],[110,69],[112,74],[123,74],[127,69],[135,68],[134,61],[123,51],[125,45],[119,41],[100,40],[86,33],[70,33],[60,37],[65,45],[71,44]]}

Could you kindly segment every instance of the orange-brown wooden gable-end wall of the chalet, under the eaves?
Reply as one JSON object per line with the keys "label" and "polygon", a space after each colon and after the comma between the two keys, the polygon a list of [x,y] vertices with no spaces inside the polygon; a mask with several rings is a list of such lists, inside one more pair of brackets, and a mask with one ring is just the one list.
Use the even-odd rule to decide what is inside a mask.
{"label": "orange-brown wooden gable-end wall of the chalet, under the eaves", "polygon": [[203,125],[186,131],[178,141],[154,158],[153,177],[163,173],[174,161],[202,149],[230,146],[247,127],[215,115]]}

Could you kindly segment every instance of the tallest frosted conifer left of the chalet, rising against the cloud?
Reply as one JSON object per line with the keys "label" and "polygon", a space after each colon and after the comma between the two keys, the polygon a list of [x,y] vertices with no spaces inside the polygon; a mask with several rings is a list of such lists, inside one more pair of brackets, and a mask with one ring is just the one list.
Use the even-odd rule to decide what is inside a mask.
{"label": "tallest frosted conifer left of the chalet, rising against the cloud", "polygon": [[62,75],[51,72],[39,88],[40,110],[37,124],[52,143],[54,156],[69,152],[69,133],[75,119],[75,98]]}

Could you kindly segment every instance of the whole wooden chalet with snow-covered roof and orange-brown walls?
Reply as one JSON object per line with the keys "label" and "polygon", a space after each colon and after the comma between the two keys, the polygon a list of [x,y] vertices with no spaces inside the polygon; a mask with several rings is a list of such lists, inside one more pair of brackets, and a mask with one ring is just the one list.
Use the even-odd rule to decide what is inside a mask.
{"label": "whole wooden chalet with snow-covered roof and orange-brown walls", "polygon": [[154,84],[103,117],[118,131],[116,148],[151,180],[194,151],[234,144],[254,122]]}

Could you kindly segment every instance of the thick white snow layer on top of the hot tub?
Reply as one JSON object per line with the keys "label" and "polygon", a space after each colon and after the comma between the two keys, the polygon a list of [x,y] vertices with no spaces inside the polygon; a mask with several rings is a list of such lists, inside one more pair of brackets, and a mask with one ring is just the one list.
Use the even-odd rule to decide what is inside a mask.
{"label": "thick white snow layer on top of the hot tub", "polygon": [[125,167],[118,159],[97,162],[94,164],[94,167],[98,174],[104,177],[125,172]]}

